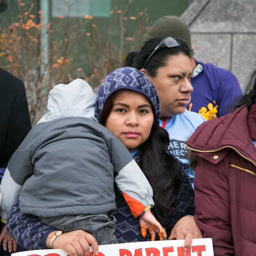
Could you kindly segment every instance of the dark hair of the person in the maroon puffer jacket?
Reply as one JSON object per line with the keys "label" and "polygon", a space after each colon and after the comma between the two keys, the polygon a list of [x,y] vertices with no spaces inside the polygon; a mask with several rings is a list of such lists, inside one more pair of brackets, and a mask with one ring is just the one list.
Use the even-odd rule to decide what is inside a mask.
{"label": "dark hair of the person in the maroon puffer jacket", "polygon": [[246,105],[250,111],[251,106],[256,103],[256,68],[251,72],[244,90],[244,96],[240,98],[238,104],[235,106],[239,108]]}

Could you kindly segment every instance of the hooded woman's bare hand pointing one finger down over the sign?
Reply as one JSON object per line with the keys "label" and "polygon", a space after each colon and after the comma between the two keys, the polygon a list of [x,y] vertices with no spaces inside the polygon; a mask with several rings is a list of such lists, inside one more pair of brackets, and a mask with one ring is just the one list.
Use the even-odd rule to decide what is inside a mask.
{"label": "hooded woman's bare hand pointing one finger down over the sign", "polygon": [[190,249],[192,239],[203,238],[200,229],[198,228],[193,217],[185,216],[177,221],[174,228],[171,231],[169,239],[185,239],[183,250]]}

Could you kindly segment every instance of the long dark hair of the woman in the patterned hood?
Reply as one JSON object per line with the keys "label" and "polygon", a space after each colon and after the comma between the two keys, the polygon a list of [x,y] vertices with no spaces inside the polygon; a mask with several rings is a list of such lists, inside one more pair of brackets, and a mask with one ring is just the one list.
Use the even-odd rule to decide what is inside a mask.
{"label": "long dark hair of the woman in the patterned hood", "polygon": [[[118,91],[110,96],[102,109],[100,124],[103,126],[111,113],[117,93]],[[150,135],[139,147],[142,152],[140,168],[153,188],[156,217],[165,225],[170,225],[170,218],[175,213],[171,204],[182,185],[182,167],[176,158],[168,153],[169,144],[169,135],[157,124],[154,113]]]}

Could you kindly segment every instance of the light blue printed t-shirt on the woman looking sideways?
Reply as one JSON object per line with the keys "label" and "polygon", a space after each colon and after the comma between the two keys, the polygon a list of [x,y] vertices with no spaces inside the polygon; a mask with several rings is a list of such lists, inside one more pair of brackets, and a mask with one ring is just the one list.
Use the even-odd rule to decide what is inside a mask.
{"label": "light blue printed t-shirt on the woman looking sideways", "polygon": [[169,133],[170,138],[170,152],[178,158],[188,176],[192,186],[194,187],[194,170],[188,168],[187,153],[188,150],[185,146],[185,142],[190,138],[196,128],[202,124],[206,119],[196,112],[186,110],[183,114],[178,114],[174,117],[160,121],[160,126],[165,125],[165,129]]}

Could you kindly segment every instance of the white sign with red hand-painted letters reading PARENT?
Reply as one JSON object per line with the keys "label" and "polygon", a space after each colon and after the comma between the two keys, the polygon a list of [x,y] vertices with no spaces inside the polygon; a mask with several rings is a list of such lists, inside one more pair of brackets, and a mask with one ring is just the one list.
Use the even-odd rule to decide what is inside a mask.
{"label": "white sign with red hand-painted letters reading PARENT", "polygon": [[[154,242],[133,242],[124,244],[100,245],[98,256],[214,256],[211,238],[193,239],[192,246],[183,251],[184,240]],[[91,250],[92,251],[92,250]],[[67,256],[60,249],[16,252],[12,256]],[[93,256],[93,252],[90,252]]]}

